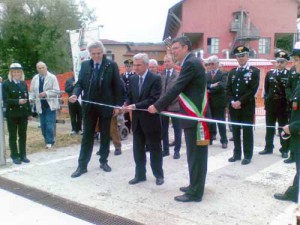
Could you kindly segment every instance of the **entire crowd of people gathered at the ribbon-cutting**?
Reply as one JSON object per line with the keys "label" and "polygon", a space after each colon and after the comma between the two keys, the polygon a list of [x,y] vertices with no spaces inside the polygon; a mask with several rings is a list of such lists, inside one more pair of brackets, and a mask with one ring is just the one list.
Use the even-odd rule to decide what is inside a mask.
{"label": "entire crowd of people gathered at the ribbon-cutting", "polygon": [[[242,160],[242,165],[251,163],[260,70],[249,64],[249,49],[243,45],[237,46],[233,53],[238,66],[226,72],[215,55],[200,63],[192,53],[191,41],[185,36],[173,39],[169,48],[161,73],[155,59],[138,53],[124,62],[126,71],[120,74],[118,65],[105,57],[105,47],[100,41],[89,44],[91,59],[82,62],[78,79],[70,78],[65,86],[69,96],[71,134],[82,134],[78,167],[72,178],[88,172],[96,129],[101,134],[97,152],[100,168],[105,172],[112,170],[108,164],[111,138],[115,155],[122,153],[117,129],[118,115],[124,115],[125,124],[133,135],[135,171],[130,185],[147,180],[147,151],[150,152],[156,184],[164,183],[163,157],[170,155],[171,122],[174,129],[173,158],[180,158],[183,132],[189,172],[188,185],[179,188],[183,194],[176,196],[175,200],[201,201],[205,190],[208,146],[216,140],[217,130],[222,148],[228,148],[224,124],[227,111],[233,122],[234,143],[233,155],[228,161],[234,163]],[[297,201],[300,172],[300,153],[297,150],[300,149],[300,46],[295,47],[291,56],[295,66],[289,71],[286,65],[290,55],[278,51],[275,68],[265,77],[266,136],[265,148],[259,154],[273,153],[275,125],[278,122],[281,134],[279,151],[282,158],[286,158],[286,163],[296,162],[296,176],[293,186],[284,194],[275,194],[275,198]],[[176,63],[180,71],[175,67]],[[38,74],[33,77],[29,91],[24,82],[23,68],[18,63],[11,64],[8,80],[3,83],[9,146],[15,164],[30,162],[26,156],[26,130],[28,120],[32,119],[30,102],[34,103],[34,110],[39,114],[46,148],[52,148],[55,143],[56,110],[60,108],[58,99],[61,91],[56,76],[48,72],[45,63],[38,62],[36,68]],[[173,116],[160,115],[162,111],[171,112]],[[216,122],[180,119],[176,115],[206,117]]]}

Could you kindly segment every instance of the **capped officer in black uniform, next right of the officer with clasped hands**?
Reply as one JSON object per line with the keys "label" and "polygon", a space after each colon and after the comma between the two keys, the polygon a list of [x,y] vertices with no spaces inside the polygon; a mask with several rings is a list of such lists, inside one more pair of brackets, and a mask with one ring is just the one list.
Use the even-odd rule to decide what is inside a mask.
{"label": "capped officer in black uniform, next right of the officer with clasped hands", "polygon": [[[288,123],[287,114],[287,99],[286,99],[286,84],[289,77],[289,71],[285,68],[290,57],[284,51],[278,51],[275,54],[276,69],[267,73],[265,78],[265,110],[266,110],[266,145],[265,149],[259,152],[260,155],[272,154],[274,148],[275,128],[268,126],[275,126],[276,121],[280,127]],[[282,132],[282,129],[279,129]],[[282,158],[288,157],[289,141],[282,139],[280,136]]]}

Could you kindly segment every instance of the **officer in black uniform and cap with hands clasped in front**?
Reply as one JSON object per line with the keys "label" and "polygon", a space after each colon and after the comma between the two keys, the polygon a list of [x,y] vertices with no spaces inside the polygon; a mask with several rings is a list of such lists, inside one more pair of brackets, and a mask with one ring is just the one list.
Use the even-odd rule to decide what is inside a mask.
{"label": "officer in black uniform and cap with hands clasped in front", "polygon": [[[259,85],[260,71],[248,63],[249,49],[243,45],[237,46],[235,54],[239,66],[232,69],[227,81],[227,99],[229,100],[229,113],[232,122],[254,123],[255,114],[255,94]],[[244,159],[242,165],[251,162],[253,155],[253,127],[251,126],[232,126],[234,139],[233,156],[229,162],[241,160],[241,129],[243,129],[243,152]]]}

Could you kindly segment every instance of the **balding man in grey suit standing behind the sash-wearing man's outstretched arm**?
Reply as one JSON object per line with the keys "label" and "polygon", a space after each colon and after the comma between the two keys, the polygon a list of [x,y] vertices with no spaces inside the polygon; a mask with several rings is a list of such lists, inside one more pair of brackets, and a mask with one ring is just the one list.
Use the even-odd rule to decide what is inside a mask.
{"label": "balding man in grey suit standing behind the sash-wearing man's outstretched arm", "polygon": [[[170,90],[179,74],[174,68],[174,62],[171,55],[166,55],[164,57],[164,66],[165,70],[161,74],[162,78],[162,92],[161,96],[163,96],[165,93]],[[178,102],[178,98],[176,98],[168,107],[165,108],[168,112],[179,112],[180,106]],[[173,128],[174,128],[174,159],[180,158],[180,148],[181,148],[181,136],[182,136],[182,129],[180,128],[179,119],[175,117],[171,117]],[[170,124],[170,117],[168,116],[162,116],[161,117],[162,122],[162,139],[163,139],[163,156],[170,155],[169,151],[169,124]]]}

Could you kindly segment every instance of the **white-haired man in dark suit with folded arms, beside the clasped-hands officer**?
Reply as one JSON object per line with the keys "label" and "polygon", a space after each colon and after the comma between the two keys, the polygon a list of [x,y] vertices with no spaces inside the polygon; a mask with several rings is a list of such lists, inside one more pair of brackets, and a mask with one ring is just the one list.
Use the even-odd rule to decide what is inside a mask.
{"label": "white-haired man in dark suit with folded arms, beside the clasped-hands officer", "polygon": [[[226,82],[227,74],[219,70],[219,58],[216,55],[210,56],[207,59],[210,64],[210,71],[206,73],[207,90],[208,90],[208,103],[211,112],[211,118],[216,120],[225,121],[225,108],[226,108]],[[227,135],[226,125],[218,123],[218,129],[221,136],[222,148],[227,148]],[[210,124],[210,138],[215,140],[217,134],[217,126],[215,123]]]}

